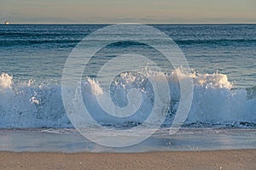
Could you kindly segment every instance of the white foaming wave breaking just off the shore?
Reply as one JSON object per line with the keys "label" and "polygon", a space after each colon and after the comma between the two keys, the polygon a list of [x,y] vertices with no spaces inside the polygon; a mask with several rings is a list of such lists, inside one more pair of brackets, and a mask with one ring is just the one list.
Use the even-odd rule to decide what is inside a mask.
{"label": "white foaming wave breaking just off the shore", "polygon": [[[166,76],[171,89],[172,102],[166,122],[163,126],[172,124],[179,104],[179,83],[177,75],[184,79],[194,80],[194,96],[189,116],[183,126],[189,127],[255,127],[256,125],[256,88],[233,89],[232,84],[223,74],[195,74],[186,73],[181,69],[172,71]],[[150,72],[148,77],[161,81],[157,72]],[[119,77],[113,93],[116,95],[117,105],[126,105],[127,89],[132,86],[149,89],[149,85],[140,74],[125,74]],[[181,80],[182,81],[182,80]],[[137,126],[144,121],[143,111],[138,116],[131,116],[128,120],[114,119],[102,116],[97,109],[96,95],[105,92],[98,82],[84,79],[82,83],[84,102],[90,103],[93,113],[102,125],[125,127]],[[125,89],[126,88],[126,89]],[[149,89],[150,91],[150,89]],[[152,96],[142,90],[151,108]],[[161,113],[160,113],[161,114]],[[99,116],[98,116],[99,115]],[[98,117],[97,117],[98,116]],[[88,125],[90,127],[90,125]],[[35,85],[30,82],[15,82],[8,74],[0,76],[0,127],[73,127],[67,118],[61,99],[61,84]]]}

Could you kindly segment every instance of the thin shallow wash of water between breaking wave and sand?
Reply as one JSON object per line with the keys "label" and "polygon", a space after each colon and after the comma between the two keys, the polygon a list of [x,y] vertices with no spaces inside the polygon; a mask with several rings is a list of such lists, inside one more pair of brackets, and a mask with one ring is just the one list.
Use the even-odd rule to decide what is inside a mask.
{"label": "thin shallow wash of water between breaking wave and sand", "polygon": [[[101,134],[97,129],[87,129]],[[111,138],[110,134],[100,136]],[[125,148],[104,147],[90,142],[76,130],[69,128],[1,129],[0,150],[49,152],[147,152],[191,150],[256,149],[255,129],[190,128],[169,135],[168,129],[157,133],[140,144]]]}

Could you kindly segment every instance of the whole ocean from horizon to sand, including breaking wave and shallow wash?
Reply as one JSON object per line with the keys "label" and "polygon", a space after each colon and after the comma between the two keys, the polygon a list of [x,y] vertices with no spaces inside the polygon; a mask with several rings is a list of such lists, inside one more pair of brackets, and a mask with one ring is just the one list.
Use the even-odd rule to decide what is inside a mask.
{"label": "whole ocean from horizon to sand, including breaking wave and shallow wash", "polygon": [[[84,37],[105,26],[108,25],[0,26],[0,150],[107,150],[102,149],[102,146],[95,149],[93,141],[83,143],[83,138],[73,129],[61,97],[61,80],[67,58]],[[81,92],[90,116],[110,131],[108,138],[116,135],[111,133],[115,132],[113,130],[125,129],[132,132],[134,127],[143,125],[144,130],[149,131],[154,127],[150,124],[152,122],[143,124],[154,108],[154,88],[148,82],[148,77],[154,77],[154,81],[160,82],[163,76],[151,71],[150,65],[130,72],[125,71],[123,65],[113,66],[124,71],[111,80],[110,95],[115,105],[125,107],[131,102],[127,99],[131,88],[137,88],[142,93],[143,103],[134,115],[109,116],[106,111],[102,111],[102,105],[97,104],[97,95],[107,93],[107,88],[96,81],[97,73],[108,60],[119,54],[132,52],[154,60],[164,71],[162,73],[170,92],[163,93],[171,94],[171,102],[166,111],[157,113],[163,115],[165,112],[165,119],[157,132],[136,148],[128,147],[127,150],[255,149],[256,25],[149,26],[172,38],[187,59],[190,70],[184,69],[183,65],[175,68],[166,59],[162,59],[159,51],[143,43],[115,42],[102,48],[84,69]],[[130,32],[131,35],[135,33],[132,30]],[[101,44],[103,40],[99,37],[97,41]],[[84,66],[84,63],[78,64],[79,66]],[[193,99],[189,113],[180,127],[182,130],[172,138],[166,132],[172,127],[180,105],[177,76],[192,80]],[[98,133],[95,132],[97,126],[94,125],[88,123],[83,127]],[[44,140],[30,143],[34,136],[44,139],[44,135],[49,139],[44,144]],[[218,140],[218,135],[227,137],[225,139],[230,145]],[[68,136],[80,142],[75,143]],[[206,136],[201,137],[205,139],[205,144],[202,140],[196,142],[199,136]],[[17,142],[20,138],[24,139],[23,143]],[[212,140],[207,140],[208,138]],[[52,145],[46,144],[51,139],[59,141],[61,148],[55,142],[50,143]],[[172,145],[173,139],[185,142]],[[214,139],[218,140],[215,140],[216,144],[212,144]],[[8,142],[10,140],[11,143]]]}

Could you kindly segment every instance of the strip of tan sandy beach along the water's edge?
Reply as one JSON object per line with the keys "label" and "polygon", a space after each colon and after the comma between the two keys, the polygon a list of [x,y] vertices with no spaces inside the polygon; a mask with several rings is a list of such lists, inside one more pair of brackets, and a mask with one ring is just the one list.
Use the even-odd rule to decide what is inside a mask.
{"label": "strip of tan sandy beach along the water's edge", "polygon": [[256,150],[148,153],[0,152],[0,169],[256,169]]}

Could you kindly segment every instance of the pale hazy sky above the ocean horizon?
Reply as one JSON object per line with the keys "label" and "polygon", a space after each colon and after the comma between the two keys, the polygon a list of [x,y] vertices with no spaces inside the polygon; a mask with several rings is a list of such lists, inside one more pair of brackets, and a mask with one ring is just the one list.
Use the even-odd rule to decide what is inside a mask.
{"label": "pale hazy sky above the ocean horizon", "polygon": [[256,0],[0,0],[0,23],[256,23]]}

